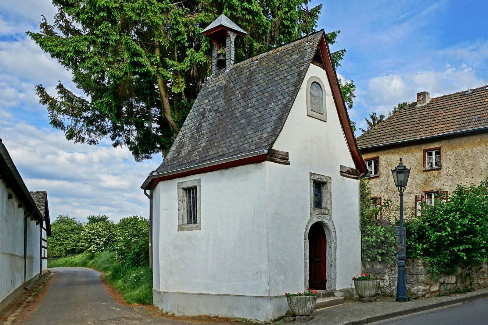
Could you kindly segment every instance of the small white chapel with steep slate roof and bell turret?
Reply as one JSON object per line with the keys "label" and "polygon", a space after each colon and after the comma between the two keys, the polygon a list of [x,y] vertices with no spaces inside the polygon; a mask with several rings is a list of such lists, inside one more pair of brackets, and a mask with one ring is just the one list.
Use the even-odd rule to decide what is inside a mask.
{"label": "small white chapel with steep slate roof and bell turret", "polygon": [[367,169],[324,31],[234,64],[244,33],[225,16],[203,31],[212,74],[142,185],[153,300],[169,313],[270,320],[288,308],[286,292],[353,296],[361,272]]}

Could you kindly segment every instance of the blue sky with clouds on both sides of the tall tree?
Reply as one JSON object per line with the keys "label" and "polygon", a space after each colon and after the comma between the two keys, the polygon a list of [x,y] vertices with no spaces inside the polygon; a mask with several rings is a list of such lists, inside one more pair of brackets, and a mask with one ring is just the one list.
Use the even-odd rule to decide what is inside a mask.
{"label": "blue sky with clouds on both sides of the tall tree", "polygon": [[[332,50],[346,48],[340,77],[354,80],[351,119],[387,114],[399,102],[432,97],[488,83],[486,1],[311,1],[323,3],[318,28],[340,30]],[[30,191],[48,191],[51,215],[82,221],[89,214],[112,220],[147,217],[139,189],[162,161],[136,163],[126,148],[74,144],[49,126],[35,85],[50,93],[70,74],[43,53],[25,31],[37,31],[41,14],[52,21],[49,0],[0,3],[0,138]],[[359,135],[359,134],[357,134]]]}

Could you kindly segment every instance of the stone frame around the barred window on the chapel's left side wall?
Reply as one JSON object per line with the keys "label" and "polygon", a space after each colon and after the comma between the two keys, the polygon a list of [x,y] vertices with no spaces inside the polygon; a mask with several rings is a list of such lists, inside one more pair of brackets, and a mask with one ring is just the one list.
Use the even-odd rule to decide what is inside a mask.
{"label": "stone frame around the barred window on the chapel's left side wall", "polygon": [[[186,189],[197,187],[197,223],[188,224]],[[202,229],[202,204],[201,204],[201,181],[200,178],[178,182],[178,231]]]}

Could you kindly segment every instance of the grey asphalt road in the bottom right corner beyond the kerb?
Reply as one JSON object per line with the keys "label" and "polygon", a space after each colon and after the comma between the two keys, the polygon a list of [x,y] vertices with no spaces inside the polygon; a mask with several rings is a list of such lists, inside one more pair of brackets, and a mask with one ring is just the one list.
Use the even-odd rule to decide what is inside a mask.
{"label": "grey asphalt road in the bottom right corner beyond the kerb", "polygon": [[[410,316],[398,321],[381,324],[387,325],[487,325],[488,299],[480,299],[464,303],[460,306]],[[378,324],[378,323],[375,323]]]}

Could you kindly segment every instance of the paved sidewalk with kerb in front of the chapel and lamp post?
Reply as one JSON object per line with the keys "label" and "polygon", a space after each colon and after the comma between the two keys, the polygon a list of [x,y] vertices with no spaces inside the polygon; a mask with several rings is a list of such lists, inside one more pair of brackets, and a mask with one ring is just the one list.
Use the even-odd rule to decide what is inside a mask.
{"label": "paved sidewalk with kerb in front of the chapel and lamp post", "polygon": [[[426,311],[434,308],[454,305],[471,300],[487,298],[488,288],[448,297],[426,298],[405,303],[394,302],[392,297],[380,297],[373,303],[361,303],[357,299],[346,300],[342,305],[318,309],[307,325],[361,325],[383,321],[393,317]],[[279,323],[284,323],[283,320]],[[290,323],[293,324],[293,323]]]}

